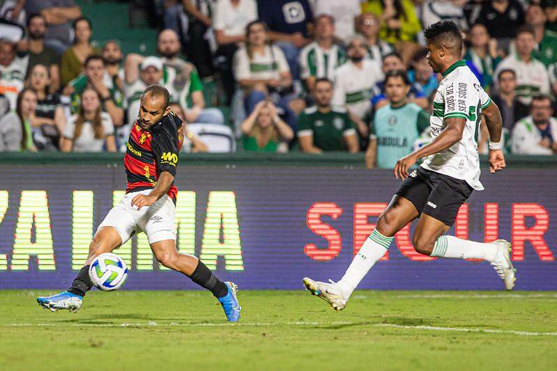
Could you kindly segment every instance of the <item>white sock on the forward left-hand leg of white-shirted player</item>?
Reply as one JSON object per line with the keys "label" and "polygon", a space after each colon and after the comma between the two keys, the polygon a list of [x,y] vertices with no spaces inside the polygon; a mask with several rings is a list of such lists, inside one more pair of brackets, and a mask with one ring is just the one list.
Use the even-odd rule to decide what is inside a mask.
{"label": "white sock on the forward left-hand leg of white-shirted player", "polygon": [[392,238],[381,235],[376,229],[367,237],[358,255],[354,257],[342,279],[337,282],[346,299],[356,290],[358,283],[363,280],[369,269],[372,269],[375,262],[383,258]]}

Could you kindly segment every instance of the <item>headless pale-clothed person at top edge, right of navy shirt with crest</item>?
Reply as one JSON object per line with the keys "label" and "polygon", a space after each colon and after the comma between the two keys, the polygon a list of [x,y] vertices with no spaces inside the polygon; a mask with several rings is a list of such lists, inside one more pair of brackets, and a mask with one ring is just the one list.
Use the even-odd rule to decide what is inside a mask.
{"label": "headless pale-clothed person at top edge, right of navy shirt with crest", "polygon": [[361,13],[361,0],[314,0],[315,15],[328,14],[335,20],[335,37],[348,42],[356,33],[356,17]]}

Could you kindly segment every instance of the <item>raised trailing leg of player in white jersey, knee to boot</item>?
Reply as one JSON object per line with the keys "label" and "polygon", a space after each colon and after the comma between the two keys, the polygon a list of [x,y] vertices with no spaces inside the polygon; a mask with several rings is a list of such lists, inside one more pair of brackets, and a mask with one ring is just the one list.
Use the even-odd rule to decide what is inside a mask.
{"label": "raised trailing leg of player in white jersey, knee to boot", "polygon": [[512,290],[516,269],[510,260],[510,243],[498,239],[489,244],[468,241],[453,236],[445,236],[449,229],[442,221],[427,214],[422,214],[418,220],[412,243],[418,253],[442,258],[483,259],[487,260],[497,271],[505,283],[507,290]]}

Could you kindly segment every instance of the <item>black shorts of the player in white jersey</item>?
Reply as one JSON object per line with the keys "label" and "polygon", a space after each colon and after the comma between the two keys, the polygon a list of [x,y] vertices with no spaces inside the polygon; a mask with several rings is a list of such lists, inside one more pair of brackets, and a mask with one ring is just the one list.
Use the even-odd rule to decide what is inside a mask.
{"label": "black shorts of the player in white jersey", "polygon": [[413,203],[420,214],[423,212],[451,227],[457,219],[460,205],[473,190],[465,180],[420,166],[402,182],[395,194]]}

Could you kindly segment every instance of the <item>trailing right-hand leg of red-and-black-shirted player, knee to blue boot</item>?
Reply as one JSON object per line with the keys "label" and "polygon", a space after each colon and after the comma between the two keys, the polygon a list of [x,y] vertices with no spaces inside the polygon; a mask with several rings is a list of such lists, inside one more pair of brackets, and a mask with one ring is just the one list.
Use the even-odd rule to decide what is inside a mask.
{"label": "trailing right-hand leg of red-and-black-shirted player, knee to blue boot", "polygon": [[178,253],[174,239],[153,242],[151,249],[160,264],[185,274],[197,285],[211,291],[220,301],[229,322],[237,322],[240,319],[242,308],[236,297],[238,286],[235,283],[220,281],[201,260],[192,255]]}

